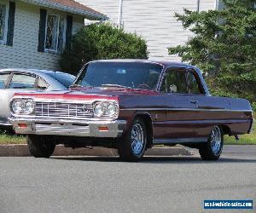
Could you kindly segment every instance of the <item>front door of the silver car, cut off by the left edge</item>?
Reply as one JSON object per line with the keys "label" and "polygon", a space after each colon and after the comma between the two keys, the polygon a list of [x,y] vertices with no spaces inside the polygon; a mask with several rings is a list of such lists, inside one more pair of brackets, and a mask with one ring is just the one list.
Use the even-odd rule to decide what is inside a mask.
{"label": "front door of the silver car, cut off by the left edge", "polygon": [[9,83],[10,72],[1,72],[0,73],[0,125],[9,124],[6,117],[7,112],[7,100],[6,100],[6,87]]}

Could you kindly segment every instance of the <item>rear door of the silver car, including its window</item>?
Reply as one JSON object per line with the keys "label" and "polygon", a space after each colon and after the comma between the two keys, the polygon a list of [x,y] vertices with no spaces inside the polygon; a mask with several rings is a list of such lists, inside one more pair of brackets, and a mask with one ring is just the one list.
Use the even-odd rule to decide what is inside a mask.
{"label": "rear door of the silver car, including its window", "polygon": [[9,101],[19,92],[30,92],[37,90],[37,76],[30,73],[10,73],[9,82],[7,83],[3,93],[1,94],[1,111],[0,118],[8,123],[8,118],[10,116]]}

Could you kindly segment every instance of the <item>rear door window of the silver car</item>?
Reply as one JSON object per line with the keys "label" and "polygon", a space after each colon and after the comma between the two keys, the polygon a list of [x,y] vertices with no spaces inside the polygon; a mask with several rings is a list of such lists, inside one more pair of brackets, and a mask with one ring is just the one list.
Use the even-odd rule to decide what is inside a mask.
{"label": "rear door window of the silver car", "polygon": [[35,89],[35,81],[35,77],[15,74],[9,85],[9,89]]}

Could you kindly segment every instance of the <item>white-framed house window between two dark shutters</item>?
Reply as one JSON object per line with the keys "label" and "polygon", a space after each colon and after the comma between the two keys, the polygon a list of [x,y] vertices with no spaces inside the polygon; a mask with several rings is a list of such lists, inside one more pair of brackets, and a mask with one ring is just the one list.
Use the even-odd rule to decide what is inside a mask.
{"label": "white-framed house window between two dark shutters", "polygon": [[48,14],[46,21],[45,49],[61,52],[64,47],[65,21],[61,15]]}

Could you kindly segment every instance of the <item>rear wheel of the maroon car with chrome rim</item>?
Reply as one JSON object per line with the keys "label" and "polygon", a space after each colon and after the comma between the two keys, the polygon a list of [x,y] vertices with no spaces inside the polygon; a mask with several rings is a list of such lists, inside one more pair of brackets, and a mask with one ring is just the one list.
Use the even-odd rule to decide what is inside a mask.
{"label": "rear wheel of the maroon car with chrome rim", "polygon": [[[216,143],[214,146],[214,141],[212,138],[212,134],[218,133],[218,144]],[[224,144],[224,133],[223,130],[219,126],[214,126],[212,128],[211,134],[209,135],[207,143],[201,144],[201,147],[199,148],[199,153],[201,155],[201,159],[203,160],[218,160],[222,153]]]}

